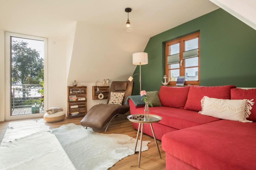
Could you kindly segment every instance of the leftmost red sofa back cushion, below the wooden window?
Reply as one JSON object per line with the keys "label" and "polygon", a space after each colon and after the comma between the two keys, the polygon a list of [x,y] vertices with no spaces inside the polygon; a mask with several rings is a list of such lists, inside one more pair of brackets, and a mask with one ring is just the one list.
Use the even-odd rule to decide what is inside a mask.
{"label": "leftmost red sofa back cushion, below the wooden window", "polygon": [[167,87],[161,86],[159,99],[162,106],[183,109],[188,96],[190,86],[186,87]]}

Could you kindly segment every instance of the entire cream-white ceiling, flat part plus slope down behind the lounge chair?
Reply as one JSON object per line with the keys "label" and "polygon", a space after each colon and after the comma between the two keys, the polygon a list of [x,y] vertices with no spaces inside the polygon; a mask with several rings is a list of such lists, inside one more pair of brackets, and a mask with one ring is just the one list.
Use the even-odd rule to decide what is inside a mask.
{"label": "entire cream-white ceiling, flat part plus slope down behind the lounge chair", "polygon": [[[0,28],[5,31],[66,37],[67,83],[127,80],[136,67],[132,54],[143,51],[151,36],[219,8],[208,0],[0,0],[0,4]],[[132,32],[122,30],[126,7],[132,8]]]}

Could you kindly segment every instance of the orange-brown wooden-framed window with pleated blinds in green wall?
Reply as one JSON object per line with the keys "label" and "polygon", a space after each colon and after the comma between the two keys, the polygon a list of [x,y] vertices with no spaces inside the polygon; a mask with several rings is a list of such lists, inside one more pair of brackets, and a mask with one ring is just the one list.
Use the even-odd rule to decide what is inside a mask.
{"label": "orange-brown wooden-framed window with pleated blinds in green wall", "polygon": [[165,74],[169,85],[185,76],[184,85],[200,85],[200,33],[165,43]]}

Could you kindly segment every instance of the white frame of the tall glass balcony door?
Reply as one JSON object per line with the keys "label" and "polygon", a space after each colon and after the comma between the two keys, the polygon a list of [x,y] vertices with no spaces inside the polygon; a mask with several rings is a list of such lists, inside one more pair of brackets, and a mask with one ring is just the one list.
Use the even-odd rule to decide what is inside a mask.
{"label": "white frame of the tall glass balcony door", "polygon": [[25,119],[31,117],[42,117],[44,113],[24,114],[11,116],[11,56],[10,56],[10,37],[27,38],[32,40],[44,41],[44,111],[48,108],[48,38],[37,37],[25,34],[17,34],[12,32],[5,32],[5,68],[6,68],[6,82],[5,82],[5,120]]}

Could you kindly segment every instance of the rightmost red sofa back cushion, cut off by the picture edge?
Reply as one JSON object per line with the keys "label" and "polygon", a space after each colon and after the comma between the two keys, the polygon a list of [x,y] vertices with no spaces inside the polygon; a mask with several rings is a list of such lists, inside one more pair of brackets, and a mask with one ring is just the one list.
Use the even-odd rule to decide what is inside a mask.
{"label": "rightmost red sofa back cushion, cut off by the picture edge", "polygon": [[247,118],[247,120],[256,121],[256,88],[248,90],[241,88],[233,88],[231,89],[231,99],[254,99],[253,102],[255,102],[255,104],[252,106],[251,114]]}

